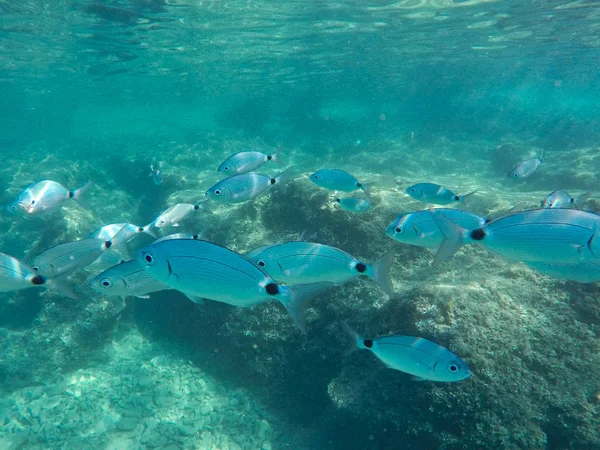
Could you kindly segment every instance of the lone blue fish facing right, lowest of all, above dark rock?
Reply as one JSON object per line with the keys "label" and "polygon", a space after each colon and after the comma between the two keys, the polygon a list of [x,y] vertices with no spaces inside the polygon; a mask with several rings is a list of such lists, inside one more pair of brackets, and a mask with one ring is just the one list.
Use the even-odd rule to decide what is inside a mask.
{"label": "lone blue fish facing right, lowest of all, above dark rock", "polygon": [[462,381],[471,369],[445,347],[420,337],[389,335],[364,339],[342,322],[350,338],[349,351],[370,350],[386,367],[408,373],[418,381]]}

